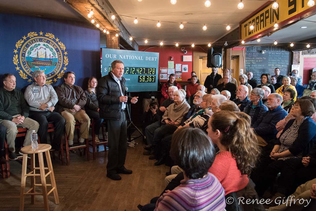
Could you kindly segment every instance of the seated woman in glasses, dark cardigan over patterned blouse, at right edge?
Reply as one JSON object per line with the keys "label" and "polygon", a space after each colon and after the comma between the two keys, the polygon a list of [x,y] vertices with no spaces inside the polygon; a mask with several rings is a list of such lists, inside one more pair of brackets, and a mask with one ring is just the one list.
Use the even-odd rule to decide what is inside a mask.
{"label": "seated woman in glasses, dark cardigan over patterned blouse, at right edge", "polygon": [[[263,195],[264,191],[269,187],[277,176],[281,172],[279,183],[281,188],[284,188],[288,183],[285,183],[282,169],[285,164],[285,160],[292,158],[300,158],[309,152],[313,142],[316,140],[316,124],[310,118],[315,113],[315,107],[307,99],[299,99],[295,102],[291,109],[291,115],[295,119],[289,120],[286,124],[281,136],[277,139],[277,142],[270,153],[270,162],[260,173],[260,179],[257,182],[256,190],[260,195]],[[270,163],[270,164],[269,164]],[[281,189],[278,189],[278,193]],[[287,193],[281,193],[287,194]],[[280,194],[278,194],[280,195]]]}

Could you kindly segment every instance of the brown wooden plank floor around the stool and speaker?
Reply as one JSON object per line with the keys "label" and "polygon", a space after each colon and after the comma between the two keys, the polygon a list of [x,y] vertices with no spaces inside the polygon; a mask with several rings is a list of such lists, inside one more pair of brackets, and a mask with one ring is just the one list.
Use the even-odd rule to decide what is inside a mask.
{"label": "brown wooden plank floor around the stool and speaker", "polygon": [[[60,160],[52,160],[60,204],[48,198],[50,210],[138,210],[138,204],[149,203],[165,188],[165,173],[169,167],[154,166],[155,160],[143,155],[143,142],[135,148],[128,147],[125,167],[133,170],[130,175],[121,175],[122,180],[114,181],[106,177],[105,152],[99,152],[95,161],[79,153],[70,153],[70,166],[62,166]],[[0,210],[18,210],[20,203],[22,165],[10,161],[10,178],[0,179]],[[39,180],[37,180],[39,181]],[[47,177],[48,183],[49,177]],[[27,178],[27,187],[30,179]],[[28,190],[28,188],[27,188]],[[49,189],[50,190],[50,189]],[[40,189],[37,189],[40,192]],[[26,196],[25,210],[43,210],[43,197],[36,196],[31,205],[31,197]]]}

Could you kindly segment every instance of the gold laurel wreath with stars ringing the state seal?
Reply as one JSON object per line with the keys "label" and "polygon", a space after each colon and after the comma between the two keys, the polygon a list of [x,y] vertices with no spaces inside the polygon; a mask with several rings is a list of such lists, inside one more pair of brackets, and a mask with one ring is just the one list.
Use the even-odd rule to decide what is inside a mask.
{"label": "gold laurel wreath with stars ringing the state seal", "polygon": [[[43,34],[43,32],[41,31],[41,32],[39,32],[39,34],[40,35],[42,35]],[[22,38],[23,39],[20,39],[20,40],[18,40],[16,43],[15,43],[15,48],[16,49],[14,49],[13,50],[13,53],[15,53],[14,55],[13,55],[13,64],[15,64],[16,65],[16,71],[18,71],[19,70],[19,75],[21,76],[21,78],[23,78],[23,79],[27,79],[29,82],[31,82],[32,81],[32,78],[28,78],[28,76],[20,69],[20,67],[19,67],[19,59],[18,59],[18,50],[19,50],[19,48],[21,48],[21,45],[24,43],[24,40],[26,40],[27,38],[32,38],[32,37],[35,37],[35,36],[38,36],[38,33],[37,32],[29,32],[29,33],[27,33],[27,37],[24,35]],[[59,47],[64,51],[64,55],[67,55],[67,51],[66,51],[66,46],[64,45],[64,43],[62,43],[62,42],[60,42],[59,41],[59,39],[58,38],[55,38],[55,35],[54,34],[52,34],[52,33],[46,33],[45,34],[45,36],[46,37],[48,37],[48,38],[50,38],[50,39],[54,39],[57,43],[58,43],[58,45],[59,45]],[[48,47],[49,48],[49,50],[50,51],[52,51],[52,48],[51,47]],[[57,75],[57,77],[55,77],[54,78],[54,80],[47,80],[46,81],[46,84],[52,84],[53,83],[53,81],[54,82],[57,82],[57,79],[60,79],[60,78],[62,78],[63,77],[63,75],[64,75],[64,71],[66,71],[66,66],[69,64],[69,62],[68,62],[68,57],[67,56],[64,56],[64,68],[63,68],[63,70],[61,70],[60,71],[60,73],[58,73],[58,75]]]}

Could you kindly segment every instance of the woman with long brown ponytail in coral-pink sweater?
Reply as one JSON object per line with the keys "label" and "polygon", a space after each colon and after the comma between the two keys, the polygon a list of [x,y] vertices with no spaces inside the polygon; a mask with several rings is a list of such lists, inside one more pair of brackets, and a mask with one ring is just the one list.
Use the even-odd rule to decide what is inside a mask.
{"label": "woman with long brown ponytail in coral-pink sweater", "polygon": [[256,135],[249,128],[250,119],[242,112],[219,111],[209,119],[208,135],[220,150],[209,172],[220,181],[225,195],[246,187],[247,175],[260,154]]}

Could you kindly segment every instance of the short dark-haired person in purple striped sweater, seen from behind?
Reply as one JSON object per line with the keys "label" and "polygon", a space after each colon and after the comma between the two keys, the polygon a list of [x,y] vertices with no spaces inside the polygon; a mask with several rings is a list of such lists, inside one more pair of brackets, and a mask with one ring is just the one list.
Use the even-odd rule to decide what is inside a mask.
{"label": "short dark-haired person in purple striped sweater, seen from behind", "polygon": [[[184,180],[160,196],[155,210],[224,210],[224,189],[208,173],[215,156],[210,139],[202,130],[194,128],[181,129],[174,135],[170,154],[183,169]],[[196,139],[199,141],[195,142]]]}

